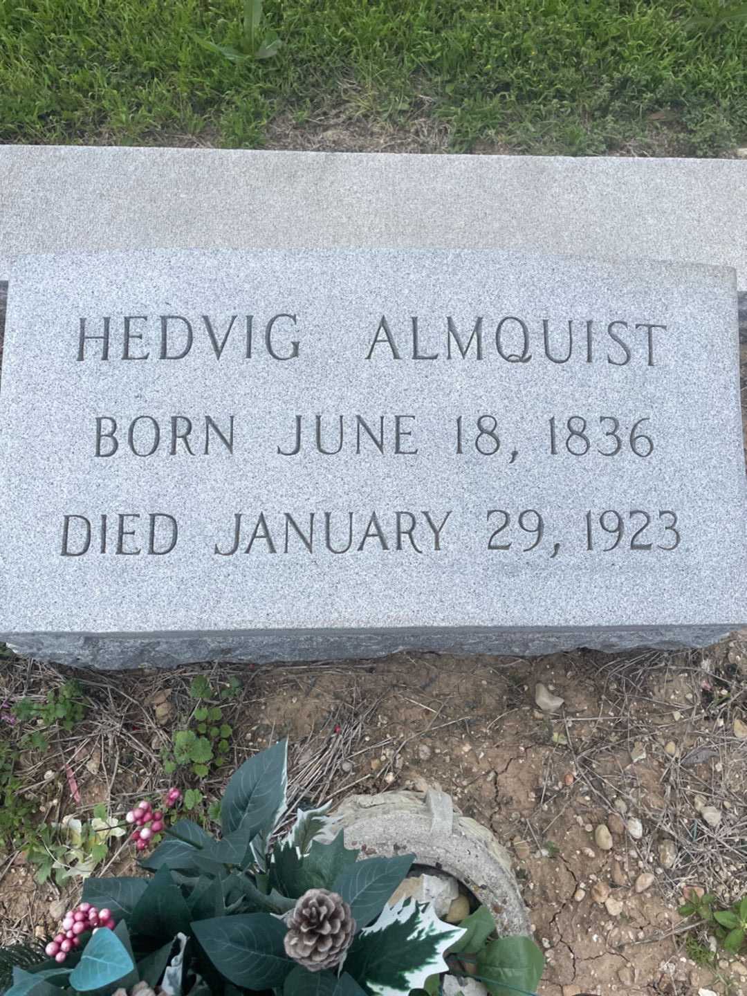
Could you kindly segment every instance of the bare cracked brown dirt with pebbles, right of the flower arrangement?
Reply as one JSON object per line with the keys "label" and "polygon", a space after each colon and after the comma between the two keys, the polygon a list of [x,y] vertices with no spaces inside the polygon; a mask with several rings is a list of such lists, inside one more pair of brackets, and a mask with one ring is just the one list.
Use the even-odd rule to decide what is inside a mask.
{"label": "bare cracked brown dirt with pebbles, right of the flower arrangement", "polygon": [[[702,792],[725,803],[729,819],[747,816],[747,744],[727,731],[701,751],[703,762],[685,768],[664,749],[674,743],[678,758],[697,761],[693,750],[711,744],[713,728],[726,729],[727,718],[704,701],[703,682],[719,668],[738,681],[729,651],[741,655],[733,643],[710,657],[630,654],[622,665],[583,651],[536,661],[399,654],[351,675],[347,691],[340,675],[299,676],[295,688],[269,693],[262,711],[264,724],[298,738],[323,720],[331,699],[352,697],[353,683],[368,700],[380,696],[366,737],[381,746],[355,759],[351,778],[371,773],[356,791],[435,784],[491,827],[511,853],[546,951],[541,996],[676,996],[701,988],[739,996],[747,993],[747,966],[724,958],[713,968],[695,965],[686,933],[676,932],[676,906],[688,884],[729,899],[747,880],[744,857],[714,858],[718,842],[693,808]],[[665,659],[671,665],[661,666]],[[536,681],[565,698],[563,716],[536,709]],[[614,833],[605,852],[593,831],[609,819],[620,826],[616,800],[641,820],[643,836]],[[689,852],[678,849],[670,870],[657,860],[660,841],[671,838],[664,828],[702,837]],[[653,872],[653,883],[636,892],[644,871]],[[595,901],[608,886],[614,915]]]}

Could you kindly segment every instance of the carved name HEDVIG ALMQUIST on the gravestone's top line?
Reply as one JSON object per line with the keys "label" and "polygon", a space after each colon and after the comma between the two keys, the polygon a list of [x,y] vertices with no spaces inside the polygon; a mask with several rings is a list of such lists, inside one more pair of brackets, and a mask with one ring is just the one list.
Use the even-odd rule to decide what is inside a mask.
{"label": "carved name HEDVIG ALMQUIST on the gravestone's top line", "polygon": [[[505,315],[457,321],[394,320],[382,315],[363,337],[362,358],[380,360],[489,360],[528,364],[603,363],[655,366],[666,326],[637,319],[527,319]],[[315,331],[315,339],[317,338]],[[348,333],[346,332],[346,340]],[[309,342],[308,349],[315,344]],[[264,355],[280,362],[304,355],[302,314],[119,315],[80,319],[78,356],[84,360],[183,360],[190,354],[215,360],[251,360]]]}

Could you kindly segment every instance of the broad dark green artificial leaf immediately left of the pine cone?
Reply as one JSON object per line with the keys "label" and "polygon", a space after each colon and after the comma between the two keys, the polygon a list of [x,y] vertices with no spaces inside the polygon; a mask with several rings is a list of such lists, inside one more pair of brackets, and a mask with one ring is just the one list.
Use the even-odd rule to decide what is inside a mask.
{"label": "broad dark green artificial leaf immediately left of the pine cone", "polygon": [[192,923],[200,947],[220,974],[244,989],[282,986],[296,962],[285,953],[287,927],[267,913],[219,916]]}

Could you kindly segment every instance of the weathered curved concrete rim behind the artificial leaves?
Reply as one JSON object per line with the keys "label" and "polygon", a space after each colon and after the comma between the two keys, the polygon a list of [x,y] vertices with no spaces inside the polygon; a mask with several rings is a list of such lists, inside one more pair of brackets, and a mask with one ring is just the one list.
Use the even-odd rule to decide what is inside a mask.
{"label": "weathered curved concrete rim behind the artificial leaves", "polygon": [[462,816],[451,796],[429,789],[350,796],[334,814],[341,818],[348,847],[367,856],[412,852],[415,865],[453,875],[487,906],[498,933],[529,934],[526,906],[511,871],[511,859],[490,831]]}

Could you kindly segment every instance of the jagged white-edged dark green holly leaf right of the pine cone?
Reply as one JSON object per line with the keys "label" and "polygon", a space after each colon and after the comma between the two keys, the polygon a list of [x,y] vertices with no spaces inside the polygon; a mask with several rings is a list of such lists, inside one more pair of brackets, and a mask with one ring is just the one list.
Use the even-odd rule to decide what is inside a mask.
{"label": "jagged white-edged dark green holly leaf right of the pine cone", "polygon": [[345,970],[370,996],[405,996],[447,970],[443,955],[462,935],[425,903],[401,900],[356,937]]}

